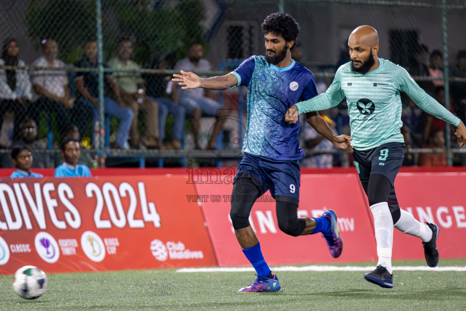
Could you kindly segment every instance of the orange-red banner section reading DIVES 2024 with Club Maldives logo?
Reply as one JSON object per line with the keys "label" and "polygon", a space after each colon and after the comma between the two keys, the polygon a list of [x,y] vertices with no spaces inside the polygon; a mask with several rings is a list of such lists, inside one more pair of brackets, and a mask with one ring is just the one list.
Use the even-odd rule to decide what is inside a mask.
{"label": "orange-red banner section reading DIVES 2024 with Club Maldives logo", "polygon": [[216,265],[184,175],[0,179],[0,274]]}

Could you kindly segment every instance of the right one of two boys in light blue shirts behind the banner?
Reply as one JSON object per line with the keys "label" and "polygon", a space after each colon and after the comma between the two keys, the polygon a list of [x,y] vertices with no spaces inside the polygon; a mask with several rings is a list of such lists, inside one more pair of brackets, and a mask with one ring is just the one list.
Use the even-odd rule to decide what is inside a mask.
{"label": "right one of two boys in light blue shirts behind the banner", "polygon": [[65,162],[57,166],[55,177],[92,177],[89,167],[77,164],[79,157],[81,157],[81,147],[78,139],[73,137],[63,139],[61,149]]}

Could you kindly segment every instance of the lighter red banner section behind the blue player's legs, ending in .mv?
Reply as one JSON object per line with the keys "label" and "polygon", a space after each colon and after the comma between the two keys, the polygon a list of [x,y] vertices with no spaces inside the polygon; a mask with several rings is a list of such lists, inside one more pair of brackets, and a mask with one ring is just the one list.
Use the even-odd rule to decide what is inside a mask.
{"label": "lighter red banner section behind the blue player's legs, ending in .mv", "polygon": [[[204,179],[196,184],[220,266],[250,264],[241,251],[229,218],[232,180],[222,175],[215,183]],[[338,227],[343,236],[343,253],[338,259],[330,256],[321,234],[293,237],[281,232],[275,202],[267,191],[254,204],[249,219],[267,263],[279,265],[376,260],[372,216],[368,214],[362,191],[356,174],[301,175],[298,216],[320,217],[326,209],[336,211]]]}

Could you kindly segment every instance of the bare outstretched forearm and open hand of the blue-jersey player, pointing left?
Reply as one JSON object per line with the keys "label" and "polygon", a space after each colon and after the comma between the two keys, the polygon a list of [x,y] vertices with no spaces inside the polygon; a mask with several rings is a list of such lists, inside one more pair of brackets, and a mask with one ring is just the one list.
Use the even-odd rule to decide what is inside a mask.
{"label": "bare outstretched forearm and open hand of the blue-jersey player, pointing left", "polygon": [[171,81],[178,82],[182,89],[204,88],[210,90],[226,90],[236,84],[238,79],[232,74],[225,76],[212,76],[210,78],[201,78],[194,72],[180,71],[181,75],[174,74]]}

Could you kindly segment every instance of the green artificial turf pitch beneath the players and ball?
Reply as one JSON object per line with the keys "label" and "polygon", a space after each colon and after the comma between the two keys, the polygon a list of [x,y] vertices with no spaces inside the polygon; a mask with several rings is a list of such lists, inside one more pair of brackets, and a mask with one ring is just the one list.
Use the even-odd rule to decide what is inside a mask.
{"label": "green artificial turf pitch beneath the players and ball", "polygon": [[[465,266],[466,260],[440,265]],[[0,276],[0,310],[466,310],[466,272],[395,271],[393,289],[365,281],[363,272],[279,272],[278,277],[278,293],[237,294],[254,280],[252,272],[49,274],[47,292],[25,300],[14,293],[11,276]]]}

